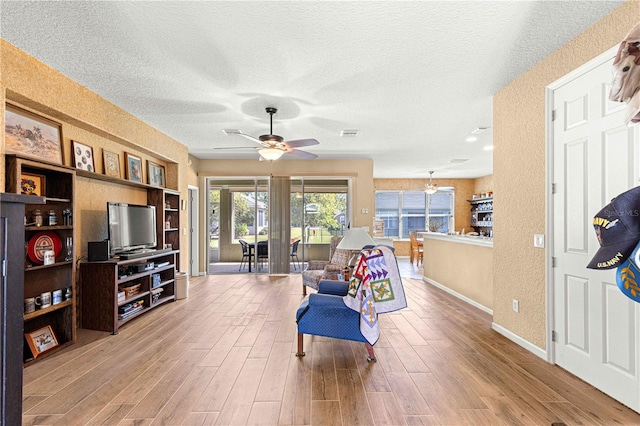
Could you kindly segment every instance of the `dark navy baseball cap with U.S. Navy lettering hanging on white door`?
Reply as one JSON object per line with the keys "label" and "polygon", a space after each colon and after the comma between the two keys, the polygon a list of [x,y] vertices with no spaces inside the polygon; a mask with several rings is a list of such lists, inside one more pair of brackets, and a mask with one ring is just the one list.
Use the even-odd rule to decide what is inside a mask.
{"label": "dark navy baseball cap with U.S. Navy lettering hanging on white door", "polygon": [[600,249],[587,265],[613,269],[625,261],[640,241],[640,187],[615,197],[593,218]]}

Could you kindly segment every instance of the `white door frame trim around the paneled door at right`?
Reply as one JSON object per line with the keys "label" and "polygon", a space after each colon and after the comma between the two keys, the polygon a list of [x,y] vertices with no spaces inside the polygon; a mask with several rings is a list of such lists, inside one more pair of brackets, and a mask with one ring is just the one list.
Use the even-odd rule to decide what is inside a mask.
{"label": "white door frame trim around the paneled door at right", "polygon": [[[582,64],[578,68],[569,72],[568,74],[560,77],[558,80],[549,84],[545,88],[545,134],[546,134],[546,167],[545,167],[545,200],[546,200],[546,229],[547,245],[545,248],[545,275],[546,275],[546,360],[552,364],[556,363],[555,345],[553,342],[553,330],[555,329],[555,303],[554,303],[554,281],[553,281],[553,247],[556,239],[554,234],[554,200],[553,200],[553,146],[554,146],[554,134],[553,134],[553,100],[554,93],[557,89],[569,83],[572,80],[586,74],[587,72],[599,67],[600,65],[611,61],[616,56],[618,51],[618,45],[615,45],[589,62]],[[558,236],[560,238],[560,236]]]}

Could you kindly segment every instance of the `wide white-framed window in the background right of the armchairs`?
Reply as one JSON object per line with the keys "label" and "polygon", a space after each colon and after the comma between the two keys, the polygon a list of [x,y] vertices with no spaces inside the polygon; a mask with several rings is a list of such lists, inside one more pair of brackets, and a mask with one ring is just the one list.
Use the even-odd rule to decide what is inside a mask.
{"label": "wide white-framed window in the background right of the armchairs", "polygon": [[448,233],[454,229],[453,188],[433,195],[423,191],[376,191],[376,217],[384,222],[384,236],[409,238],[413,231]]}

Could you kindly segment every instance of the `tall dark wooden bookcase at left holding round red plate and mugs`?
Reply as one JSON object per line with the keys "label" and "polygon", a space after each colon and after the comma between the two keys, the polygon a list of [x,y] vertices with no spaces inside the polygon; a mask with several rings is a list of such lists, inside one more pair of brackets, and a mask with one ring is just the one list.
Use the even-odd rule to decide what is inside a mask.
{"label": "tall dark wooden bookcase at left holding round red plate and mugs", "polygon": [[23,361],[30,364],[76,341],[75,170],[14,154],[5,159],[7,191],[45,200],[25,205]]}

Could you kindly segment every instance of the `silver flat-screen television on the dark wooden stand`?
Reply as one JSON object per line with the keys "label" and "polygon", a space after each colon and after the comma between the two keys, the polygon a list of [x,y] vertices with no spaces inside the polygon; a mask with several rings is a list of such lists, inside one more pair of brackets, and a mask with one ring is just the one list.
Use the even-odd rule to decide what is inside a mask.
{"label": "silver flat-screen television on the dark wooden stand", "polygon": [[111,256],[156,247],[155,206],[107,202],[107,219]]}

